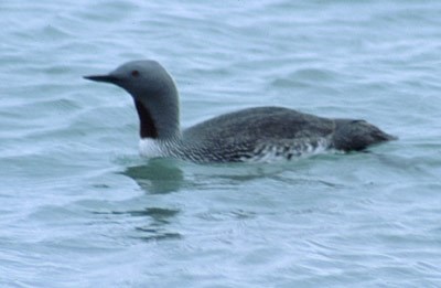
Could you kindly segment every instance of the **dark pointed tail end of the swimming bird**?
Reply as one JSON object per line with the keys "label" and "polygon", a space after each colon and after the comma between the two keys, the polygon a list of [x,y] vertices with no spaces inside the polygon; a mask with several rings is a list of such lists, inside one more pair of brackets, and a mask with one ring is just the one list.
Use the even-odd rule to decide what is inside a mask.
{"label": "dark pointed tail end of the swimming bird", "polygon": [[365,120],[336,119],[332,143],[337,150],[359,151],[372,145],[398,139]]}

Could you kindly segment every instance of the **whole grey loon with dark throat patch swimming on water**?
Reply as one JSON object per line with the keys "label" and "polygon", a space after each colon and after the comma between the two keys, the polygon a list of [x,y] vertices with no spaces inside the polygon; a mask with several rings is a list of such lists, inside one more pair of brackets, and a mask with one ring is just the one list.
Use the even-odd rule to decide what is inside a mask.
{"label": "whole grey loon with dark throat patch swimming on water", "polygon": [[255,107],[224,114],[182,130],[176,85],[157,61],[125,63],[86,79],[115,84],[135,100],[140,153],[193,162],[293,159],[324,150],[359,151],[394,140],[365,120],[332,119],[283,107]]}

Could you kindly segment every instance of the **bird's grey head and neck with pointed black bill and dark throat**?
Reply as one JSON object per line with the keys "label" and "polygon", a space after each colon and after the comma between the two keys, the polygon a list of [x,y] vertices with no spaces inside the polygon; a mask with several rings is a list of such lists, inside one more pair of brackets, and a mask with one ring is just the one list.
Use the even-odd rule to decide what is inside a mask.
{"label": "bird's grey head and neck with pointed black bill and dark throat", "polygon": [[85,78],[115,84],[133,97],[140,119],[141,138],[180,137],[176,86],[158,62],[131,61],[109,74]]}

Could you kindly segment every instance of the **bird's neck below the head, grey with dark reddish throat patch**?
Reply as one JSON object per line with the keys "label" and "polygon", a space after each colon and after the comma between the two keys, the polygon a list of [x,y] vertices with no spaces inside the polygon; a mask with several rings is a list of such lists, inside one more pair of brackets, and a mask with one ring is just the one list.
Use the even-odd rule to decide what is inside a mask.
{"label": "bird's neck below the head, grey with dark reddish throat patch", "polygon": [[180,138],[178,104],[154,107],[152,104],[136,99],[135,106],[140,121],[139,136],[141,139],[173,140]]}

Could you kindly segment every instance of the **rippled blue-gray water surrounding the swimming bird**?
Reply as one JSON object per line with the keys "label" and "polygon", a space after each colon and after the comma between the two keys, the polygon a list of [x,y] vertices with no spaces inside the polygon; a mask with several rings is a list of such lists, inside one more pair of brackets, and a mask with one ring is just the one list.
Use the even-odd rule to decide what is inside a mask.
{"label": "rippled blue-gray water surrounding the swimming bird", "polygon": [[[0,2],[1,287],[440,287],[441,2]],[[155,58],[190,126],[249,106],[364,118],[369,153],[138,156]]]}

